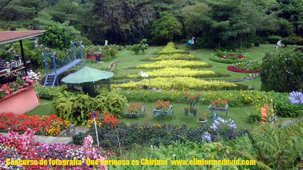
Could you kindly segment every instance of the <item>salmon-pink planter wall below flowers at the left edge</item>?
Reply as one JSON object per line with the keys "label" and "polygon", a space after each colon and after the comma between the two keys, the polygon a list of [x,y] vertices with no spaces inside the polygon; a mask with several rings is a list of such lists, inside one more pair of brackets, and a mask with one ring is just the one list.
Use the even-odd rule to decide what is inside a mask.
{"label": "salmon-pink planter wall below flowers at the left edge", "polygon": [[13,112],[23,114],[39,106],[39,100],[32,84],[23,89],[19,89],[0,100],[0,112]]}

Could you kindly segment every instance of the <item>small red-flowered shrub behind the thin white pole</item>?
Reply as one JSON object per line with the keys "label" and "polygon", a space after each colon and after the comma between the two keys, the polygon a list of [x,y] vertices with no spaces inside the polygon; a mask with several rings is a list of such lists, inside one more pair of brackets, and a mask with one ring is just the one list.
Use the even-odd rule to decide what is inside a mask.
{"label": "small red-flowered shrub behind the thin white pole", "polygon": [[[100,113],[99,111],[96,111],[95,113],[95,120],[96,124],[100,127],[102,124],[110,124],[112,128],[114,128],[115,124],[120,124],[120,121],[117,121],[117,118],[115,116],[111,116],[107,111],[105,113]],[[88,120],[88,127],[94,126],[94,120],[93,120],[93,113],[91,113],[88,117],[90,119]]]}

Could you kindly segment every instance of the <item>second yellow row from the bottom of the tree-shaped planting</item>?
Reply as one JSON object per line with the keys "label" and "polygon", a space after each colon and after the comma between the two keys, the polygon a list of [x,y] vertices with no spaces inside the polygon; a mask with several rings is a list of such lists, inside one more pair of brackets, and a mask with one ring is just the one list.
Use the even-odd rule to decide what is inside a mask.
{"label": "second yellow row from the bottom of the tree-shaped planting", "polygon": [[[197,70],[190,68],[172,68],[167,67],[163,69],[147,71],[146,74],[150,77],[203,77],[205,75],[215,75],[214,71]],[[141,73],[128,75],[128,78],[142,78]]]}

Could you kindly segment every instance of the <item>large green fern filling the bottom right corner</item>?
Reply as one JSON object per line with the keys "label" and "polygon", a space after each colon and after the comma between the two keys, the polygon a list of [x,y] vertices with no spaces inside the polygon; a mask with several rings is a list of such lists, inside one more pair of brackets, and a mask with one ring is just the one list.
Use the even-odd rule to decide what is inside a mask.
{"label": "large green fern filling the bottom right corner", "polygon": [[236,139],[238,152],[248,159],[255,159],[261,169],[298,166],[303,147],[303,125],[282,123],[265,123],[251,132],[247,130],[247,135]]}

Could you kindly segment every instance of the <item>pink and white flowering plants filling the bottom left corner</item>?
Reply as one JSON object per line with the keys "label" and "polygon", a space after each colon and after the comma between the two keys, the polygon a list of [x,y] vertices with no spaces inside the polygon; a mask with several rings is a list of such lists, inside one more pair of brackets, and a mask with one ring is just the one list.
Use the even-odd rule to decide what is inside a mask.
{"label": "pink and white flowering plants filling the bottom left corner", "polygon": [[[8,137],[0,135],[0,168],[1,169],[91,169],[86,159],[105,160],[108,155],[115,153],[104,151],[102,148],[96,148],[92,145],[93,140],[90,135],[84,138],[83,145],[66,145],[62,143],[45,144],[34,141],[35,130],[28,129],[26,133],[19,135],[12,131]],[[9,144],[8,144],[9,143]],[[40,159],[47,160],[47,165],[7,165],[6,159]],[[62,165],[50,165],[49,159],[62,160]],[[63,165],[64,160],[69,161]],[[58,163],[59,164],[59,163]],[[106,165],[97,165],[97,169],[107,169]]]}

